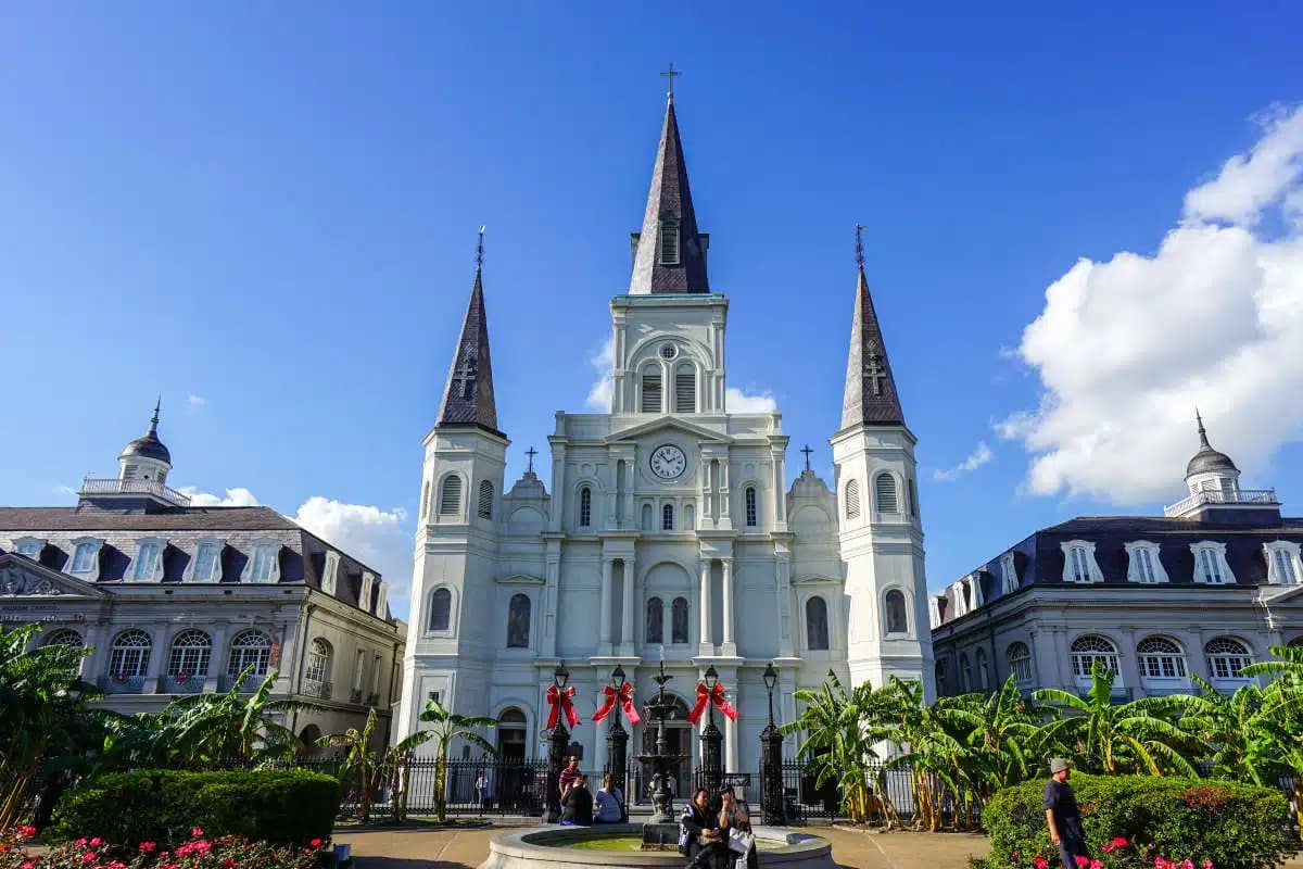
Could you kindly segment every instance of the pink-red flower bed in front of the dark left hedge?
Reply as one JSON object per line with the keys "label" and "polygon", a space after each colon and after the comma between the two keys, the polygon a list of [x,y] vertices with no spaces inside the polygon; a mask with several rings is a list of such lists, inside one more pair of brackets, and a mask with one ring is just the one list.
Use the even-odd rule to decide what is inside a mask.
{"label": "pink-red flower bed in front of the dark left hedge", "polygon": [[330,839],[291,847],[241,836],[206,838],[193,827],[190,838],[172,849],[156,842],[113,846],[90,836],[33,855],[23,843],[35,835],[35,827],[0,831],[0,869],[313,869],[330,847]]}

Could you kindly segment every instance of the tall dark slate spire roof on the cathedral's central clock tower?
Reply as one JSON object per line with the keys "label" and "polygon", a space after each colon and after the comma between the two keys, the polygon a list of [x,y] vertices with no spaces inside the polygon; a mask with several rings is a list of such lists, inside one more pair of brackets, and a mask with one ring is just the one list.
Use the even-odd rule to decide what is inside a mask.
{"label": "tall dark slate spire roof on the cathedral's central clock tower", "polygon": [[652,293],[709,293],[706,246],[710,236],[697,231],[688,188],[688,167],[679,141],[674,93],[667,95],[661,145],[652,169],[652,190],[642,216],[642,232],[635,236],[631,296]]}

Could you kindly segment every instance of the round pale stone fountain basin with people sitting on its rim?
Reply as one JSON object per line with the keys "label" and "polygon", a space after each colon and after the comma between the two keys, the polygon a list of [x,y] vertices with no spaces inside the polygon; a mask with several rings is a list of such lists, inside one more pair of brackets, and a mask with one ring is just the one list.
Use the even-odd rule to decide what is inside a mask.
{"label": "round pale stone fountain basin with people sitting on its rim", "polygon": [[[827,839],[783,827],[754,827],[761,866],[835,869]],[[489,859],[480,869],[593,869],[597,866],[683,866],[678,851],[633,851],[642,826],[603,823],[599,827],[533,827],[503,833],[489,842]],[[602,840],[606,840],[605,843]],[[610,848],[602,847],[609,843]]]}

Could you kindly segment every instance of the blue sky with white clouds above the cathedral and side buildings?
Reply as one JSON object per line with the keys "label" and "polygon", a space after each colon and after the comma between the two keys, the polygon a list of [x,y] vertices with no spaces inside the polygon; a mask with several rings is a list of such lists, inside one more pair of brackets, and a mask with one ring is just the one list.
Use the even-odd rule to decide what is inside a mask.
{"label": "blue sky with white clouds above the cathedral and side buildings", "polygon": [[10,5],[0,503],[72,503],[162,393],[176,485],[405,586],[476,229],[513,479],[585,409],[672,60],[730,384],[791,474],[830,478],[868,227],[933,588],[1174,500],[1195,401],[1296,515],[1303,9],[1148,5]]}

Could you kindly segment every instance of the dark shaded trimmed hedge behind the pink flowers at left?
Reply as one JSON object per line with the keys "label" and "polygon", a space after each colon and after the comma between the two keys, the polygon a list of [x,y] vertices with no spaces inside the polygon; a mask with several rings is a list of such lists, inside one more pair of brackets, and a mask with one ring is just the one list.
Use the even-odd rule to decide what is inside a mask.
{"label": "dark shaded trimmed hedge behind the pink flowers at left", "polygon": [[175,846],[201,827],[208,836],[305,844],[330,835],[339,801],[337,779],[304,770],[138,770],[102,775],[64,795],[52,834]]}

